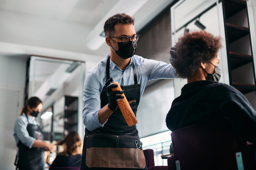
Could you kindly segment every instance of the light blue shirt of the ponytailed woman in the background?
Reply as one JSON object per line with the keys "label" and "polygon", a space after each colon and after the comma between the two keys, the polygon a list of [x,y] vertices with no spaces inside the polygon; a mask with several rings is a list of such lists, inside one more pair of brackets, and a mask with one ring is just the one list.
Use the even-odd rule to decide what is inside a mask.
{"label": "light blue shirt of the ponytailed woman in the background", "polygon": [[22,113],[22,115],[17,117],[15,120],[13,136],[16,140],[17,146],[20,141],[24,145],[31,148],[32,145],[34,144],[34,141],[36,140],[35,138],[29,136],[29,133],[27,130],[28,123],[39,125],[39,123],[35,120],[35,117],[28,116],[28,119],[27,119],[25,113]]}

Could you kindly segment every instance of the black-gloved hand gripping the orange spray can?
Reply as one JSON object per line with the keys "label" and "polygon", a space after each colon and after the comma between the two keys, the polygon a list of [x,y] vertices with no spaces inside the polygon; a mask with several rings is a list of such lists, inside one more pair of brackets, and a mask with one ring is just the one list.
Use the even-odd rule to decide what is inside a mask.
{"label": "black-gloved hand gripping the orange spray can", "polygon": [[[111,82],[113,81],[113,78],[109,78],[109,80],[106,81],[105,86],[107,87],[107,98],[109,99],[109,109],[111,111],[115,111],[117,108],[117,99],[123,99],[124,96],[122,95],[116,95],[116,94],[123,94],[123,91],[120,90],[116,90],[116,91],[111,91],[112,88],[116,88],[117,84],[111,84],[109,85]],[[122,90],[123,90],[123,86],[121,86]]]}

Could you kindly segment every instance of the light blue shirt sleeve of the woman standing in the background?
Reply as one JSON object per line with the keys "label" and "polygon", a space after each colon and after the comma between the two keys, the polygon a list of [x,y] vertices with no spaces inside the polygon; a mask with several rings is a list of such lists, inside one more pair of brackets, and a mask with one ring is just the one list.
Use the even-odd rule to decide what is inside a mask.
{"label": "light blue shirt sleeve of the woman standing in the background", "polygon": [[32,147],[36,139],[29,136],[27,124],[25,124],[25,122],[20,117],[18,117],[15,121],[14,131],[21,143],[28,146],[29,148]]}

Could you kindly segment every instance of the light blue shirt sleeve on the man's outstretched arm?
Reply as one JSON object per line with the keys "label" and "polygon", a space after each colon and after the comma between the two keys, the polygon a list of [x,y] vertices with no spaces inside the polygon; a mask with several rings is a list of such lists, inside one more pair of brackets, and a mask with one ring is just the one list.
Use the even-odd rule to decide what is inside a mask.
{"label": "light blue shirt sleeve on the man's outstretched arm", "polygon": [[158,78],[179,78],[175,75],[176,71],[171,64],[153,59],[144,59],[148,73],[148,81]]}

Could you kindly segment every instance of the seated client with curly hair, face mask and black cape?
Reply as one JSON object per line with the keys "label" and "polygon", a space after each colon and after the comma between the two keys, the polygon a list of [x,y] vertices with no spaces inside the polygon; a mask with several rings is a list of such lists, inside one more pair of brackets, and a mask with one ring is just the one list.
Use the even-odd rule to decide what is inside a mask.
{"label": "seated client with curly hair, face mask and black cape", "polygon": [[237,89],[218,82],[221,46],[221,37],[206,31],[192,31],[179,38],[176,57],[170,61],[176,74],[187,78],[187,84],[171,105],[167,127],[174,131],[223,118],[240,138],[255,143],[256,111]]}

